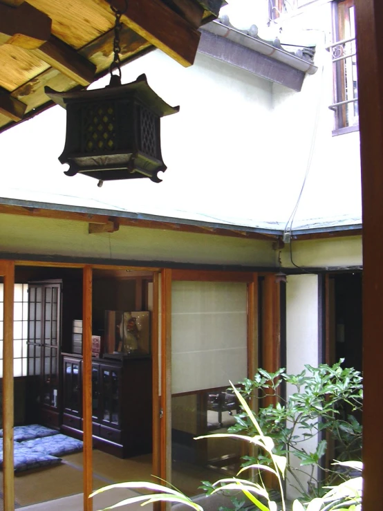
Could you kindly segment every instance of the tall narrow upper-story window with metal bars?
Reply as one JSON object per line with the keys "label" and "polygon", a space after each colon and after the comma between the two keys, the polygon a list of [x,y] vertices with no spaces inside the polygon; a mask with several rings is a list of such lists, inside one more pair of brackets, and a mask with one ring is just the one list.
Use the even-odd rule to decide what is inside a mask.
{"label": "tall narrow upper-story window with metal bars", "polygon": [[334,95],[330,109],[335,112],[335,133],[358,129],[357,56],[354,0],[334,3],[333,56]]}

